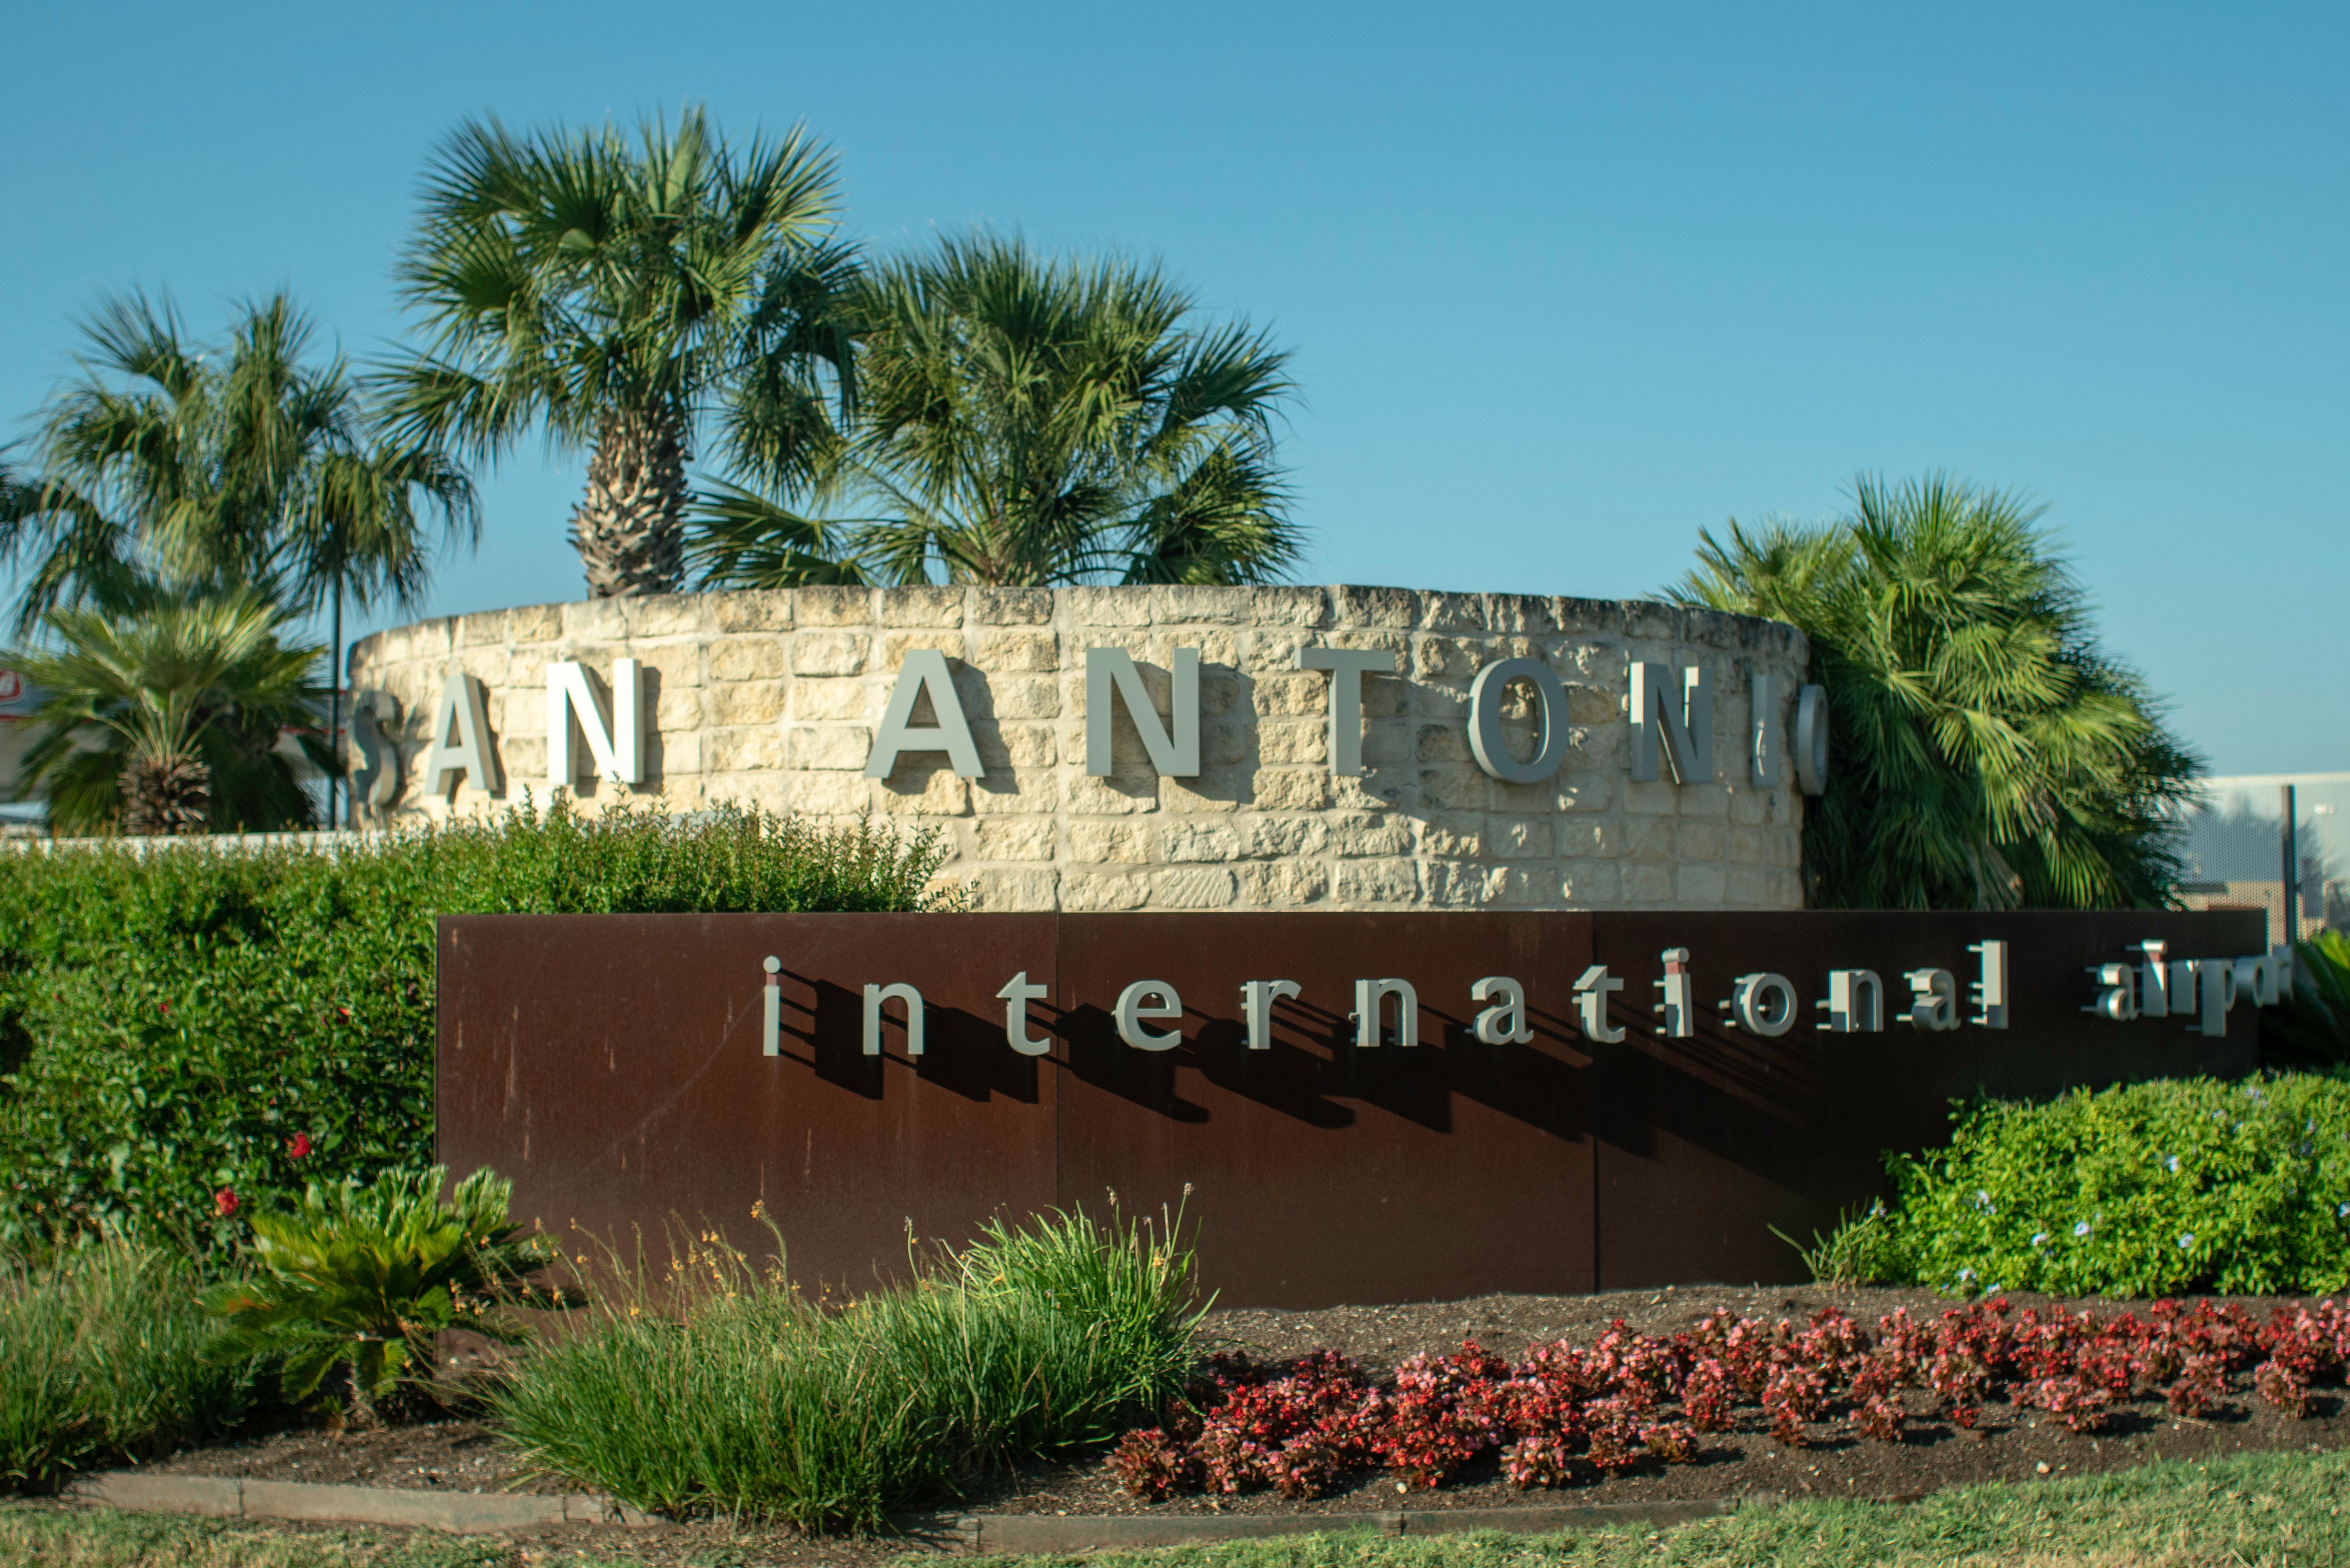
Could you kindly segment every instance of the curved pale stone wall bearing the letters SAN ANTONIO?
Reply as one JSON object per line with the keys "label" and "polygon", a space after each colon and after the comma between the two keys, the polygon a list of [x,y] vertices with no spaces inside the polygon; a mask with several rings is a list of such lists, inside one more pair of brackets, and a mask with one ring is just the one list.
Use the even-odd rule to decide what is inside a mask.
{"label": "curved pale stone wall bearing the letters SAN ANTONIO", "polygon": [[[975,759],[956,771],[945,750],[905,750],[884,778],[867,778],[874,733],[916,649],[945,656],[940,679],[952,682],[949,708],[968,722]],[[1154,708],[1144,736],[1130,698],[1109,703],[1102,776],[1088,771],[1088,649],[1126,654]],[[1182,741],[1187,649],[1198,757],[1196,771],[1170,776],[1180,769],[1161,773],[1149,745],[1166,762],[1170,741]],[[1347,677],[1302,668],[1307,649],[1370,651],[1398,670],[1358,677],[1358,776],[1335,771],[1330,750],[1332,686]],[[1104,672],[1116,654],[1093,656],[1097,691],[1133,689]],[[1504,658],[1532,658],[1556,684],[1544,682],[1544,698],[1530,679],[1488,682],[1499,722],[1485,738],[1509,757],[1488,750],[1495,766],[1480,766],[1471,696],[1478,670]],[[590,778],[592,745],[609,729],[588,738],[578,726],[569,741],[583,799],[658,792],[677,811],[738,799],[827,820],[872,811],[935,825],[954,849],[945,877],[968,884],[982,910],[1802,903],[1802,797],[1788,757],[1807,646],[1772,621],[1396,588],[801,588],[449,616],[350,651],[367,816],[479,811],[524,790],[545,799],[550,665],[564,661],[588,672],[585,684],[571,672],[557,684],[571,682],[590,717],[595,703],[625,715],[627,693],[606,693],[609,682],[632,679],[639,703],[639,755],[620,757],[637,785]],[[634,672],[618,661],[634,661]],[[1676,783],[1673,759],[1694,773],[1687,762],[1704,733],[1697,752],[1676,750],[1654,705],[1645,743],[1666,764],[1652,783],[1633,778],[1643,733],[1629,701],[1640,665],[1676,698],[1685,672],[1701,672],[1711,778]],[[1755,691],[1767,698],[1762,715]],[[1560,698],[1556,771],[1539,783],[1497,778],[1542,752],[1537,701]],[[924,689],[900,717],[921,741],[952,719],[935,710]],[[437,719],[439,762],[470,719],[484,766],[428,778]]]}

